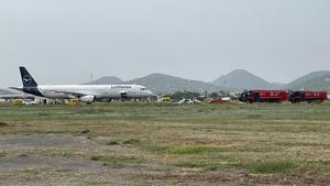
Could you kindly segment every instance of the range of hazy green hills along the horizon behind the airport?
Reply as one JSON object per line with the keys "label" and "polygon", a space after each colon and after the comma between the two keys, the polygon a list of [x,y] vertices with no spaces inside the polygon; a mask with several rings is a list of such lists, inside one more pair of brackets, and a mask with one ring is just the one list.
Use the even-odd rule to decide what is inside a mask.
{"label": "range of hazy green hills along the horizon behind the airport", "polygon": [[[220,76],[213,81],[186,79],[162,73],[153,73],[131,80],[122,80],[116,76],[105,76],[94,84],[139,84],[147,87],[154,92],[174,91],[219,91],[219,90],[243,90],[243,89],[315,89],[330,91],[330,72],[318,70],[300,76],[289,84],[270,83],[245,69],[235,69],[227,75]],[[90,84],[90,83],[88,83]]]}

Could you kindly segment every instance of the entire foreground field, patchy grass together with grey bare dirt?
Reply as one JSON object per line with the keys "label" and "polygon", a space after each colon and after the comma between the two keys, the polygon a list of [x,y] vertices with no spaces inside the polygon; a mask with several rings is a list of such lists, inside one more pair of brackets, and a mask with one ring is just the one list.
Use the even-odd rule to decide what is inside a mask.
{"label": "entire foreground field, patchy grass together with grey bare dirt", "polygon": [[330,105],[0,106],[0,185],[330,185]]}

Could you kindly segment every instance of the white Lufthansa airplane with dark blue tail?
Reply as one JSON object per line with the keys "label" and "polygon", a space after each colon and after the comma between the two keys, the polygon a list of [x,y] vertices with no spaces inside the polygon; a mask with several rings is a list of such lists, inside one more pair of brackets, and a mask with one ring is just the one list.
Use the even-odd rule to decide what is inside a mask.
{"label": "white Lufthansa airplane with dark blue tail", "polygon": [[23,87],[10,87],[50,99],[79,99],[91,103],[99,99],[140,99],[153,94],[141,85],[37,85],[25,67],[20,67]]}

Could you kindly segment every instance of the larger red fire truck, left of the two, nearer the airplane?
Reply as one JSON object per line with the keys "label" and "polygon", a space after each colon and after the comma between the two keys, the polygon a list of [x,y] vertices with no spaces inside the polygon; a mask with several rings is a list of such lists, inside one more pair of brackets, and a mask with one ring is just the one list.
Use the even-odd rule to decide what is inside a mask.
{"label": "larger red fire truck, left of the two, nearer the airplane", "polygon": [[241,94],[240,100],[243,102],[283,102],[288,99],[285,90],[245,90]]}

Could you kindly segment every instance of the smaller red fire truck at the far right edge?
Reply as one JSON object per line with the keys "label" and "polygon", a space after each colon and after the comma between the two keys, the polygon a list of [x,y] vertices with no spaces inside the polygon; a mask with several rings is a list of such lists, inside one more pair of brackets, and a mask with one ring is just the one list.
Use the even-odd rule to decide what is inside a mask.
{"label": "smaller red fire truck at the far right edge", "polygon": [[301,90],[301,91],[293,91],[289,96],[289,101],[293,103],[300,102],[300,101],[324,101],[328,99],[327,91],[309,91],[309,90]]}

